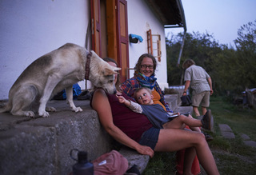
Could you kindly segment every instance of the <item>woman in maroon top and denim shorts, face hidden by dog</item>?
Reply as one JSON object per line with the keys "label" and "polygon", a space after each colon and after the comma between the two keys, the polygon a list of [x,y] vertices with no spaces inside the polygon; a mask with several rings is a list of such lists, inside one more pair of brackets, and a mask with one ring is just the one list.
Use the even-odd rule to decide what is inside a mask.
{"label": "woman in maroon top and denim shorts, face hidden by dog", "polygon": [[[112,66],[116,62],[106,59]],[[115,76],[118,89],[118,75]],[[118,89],[117,95],[133,101]],[[154,156],[154,151],[174,152],[186,149],[183,174],[192,174],[191,165],[195,154],[208,174],[219,174],[214,157],[202,133],[182,129],[158,129],[141,113],[134,113],[119,103],[115,94],[106,93],[104,89],[95,89],[91,98],[93,109],[98,113],[106,132],[123,145],[135,149],[138,153]]]}

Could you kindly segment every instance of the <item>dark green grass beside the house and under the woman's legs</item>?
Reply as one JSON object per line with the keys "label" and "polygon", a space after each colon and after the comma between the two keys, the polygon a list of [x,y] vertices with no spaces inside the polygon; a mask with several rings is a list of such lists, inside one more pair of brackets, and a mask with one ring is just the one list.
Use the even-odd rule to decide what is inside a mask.
{"label": "dark green grass beside the house and under the woman's legs", "polygon": [[[214,115],[214,141],[209,142],[210,149],[220,174],[256,174],[256,148],[243,143],[241,134],[256,141],[256,111],[233,105],[223,97],[211,97],[210,109]],[[234,139],[222,137],[218,124],[229,125]],[[143,175],[169,175],[175,173],[175,153],[154,153]],[[202,169],[202,174],[206,174]]]}

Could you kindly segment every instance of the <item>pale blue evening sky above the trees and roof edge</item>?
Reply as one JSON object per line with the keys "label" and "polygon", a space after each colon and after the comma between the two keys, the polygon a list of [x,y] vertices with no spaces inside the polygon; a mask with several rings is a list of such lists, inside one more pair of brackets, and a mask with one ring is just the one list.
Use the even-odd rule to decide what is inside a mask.
{"label": "pale blue evening sky above the trees and roof edge", "polygon": [[[182,0],[187,32],[211,34],[219,44],[234,46],[238,29],[256,20],[256,0]],[[183,28],[166,29],[178,34]]]}

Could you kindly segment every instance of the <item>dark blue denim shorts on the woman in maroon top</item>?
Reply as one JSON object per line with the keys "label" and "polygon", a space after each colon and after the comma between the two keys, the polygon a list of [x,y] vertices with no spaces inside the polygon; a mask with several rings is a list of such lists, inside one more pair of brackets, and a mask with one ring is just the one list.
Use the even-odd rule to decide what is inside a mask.
{"label": "dark blue denim shorts on the woman in maroon top", "polygon": [[160,129],[151,127],[147,129],[144,133],[142,133],[141,139],[138,141],[140,145],[150,146],[151,149],[154,150],[155,145],[158,142]]}

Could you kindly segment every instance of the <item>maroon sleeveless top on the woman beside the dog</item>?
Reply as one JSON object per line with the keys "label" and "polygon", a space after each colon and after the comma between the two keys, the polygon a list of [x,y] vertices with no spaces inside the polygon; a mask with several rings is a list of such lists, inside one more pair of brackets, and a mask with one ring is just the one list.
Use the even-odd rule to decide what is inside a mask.
{"label": "maroon sleeveless top on the woman beside the dog", "polygon": [[[134,113],[126,105],[118,101],[118,97],[115,94],[106,93],[110,101],[110,107],[112,110],[114,125],[118,126],[122,132],[132,138],[134,141],[139,141],[147,129],[153,127],[148,118],[142,113]],[[133,98],[128,97],[125,93],[122,96],[127,100],[133,101]]]}

